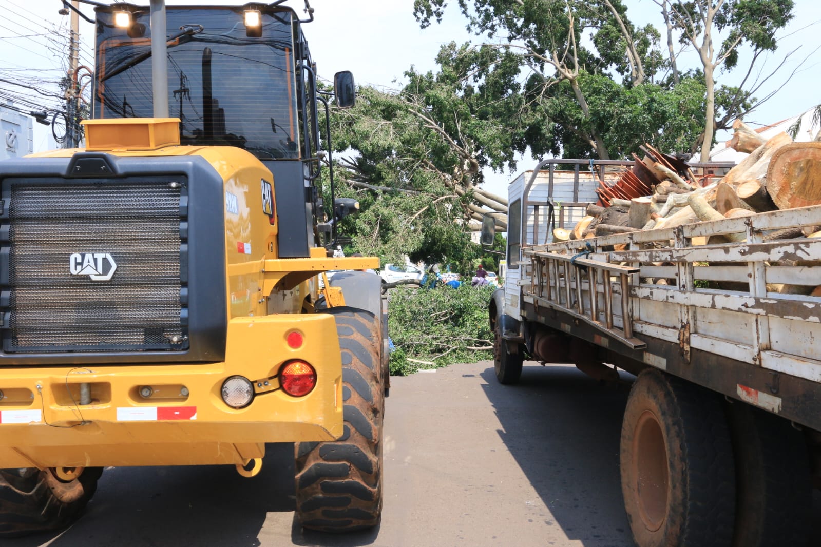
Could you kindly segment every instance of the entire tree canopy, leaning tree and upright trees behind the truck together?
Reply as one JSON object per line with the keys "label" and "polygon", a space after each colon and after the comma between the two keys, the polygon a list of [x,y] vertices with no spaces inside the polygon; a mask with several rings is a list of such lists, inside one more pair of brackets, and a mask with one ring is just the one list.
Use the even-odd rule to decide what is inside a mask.
{"label": "entire tree canopy, leaning tree and upright trees behind the truck together", "polygon": [[[441,21],[445,1],[415,0],[423,28]],[[344,192],[362,205],[346,219],[355,248],[392,262],[470,263],[481,217],[492,214],[500,230],[507,222],[507,199],[483,189],[483,170],[513,171],[520,153],[709,150],[714,130],[756,103],[757,84],[717,86],[717,68],[738,66],[742,44],[750,66],[775,48],[792,1],[654,2],[666,51],[662,34],[635,25],[621,0],[459,0],[484,43],[446,44],[436,71],[411,67],[401,89],[361,87],[355,108],[333,111],[334,147],[356,153],[341,164]],[[688,48],[700,63],[682,70]]]}

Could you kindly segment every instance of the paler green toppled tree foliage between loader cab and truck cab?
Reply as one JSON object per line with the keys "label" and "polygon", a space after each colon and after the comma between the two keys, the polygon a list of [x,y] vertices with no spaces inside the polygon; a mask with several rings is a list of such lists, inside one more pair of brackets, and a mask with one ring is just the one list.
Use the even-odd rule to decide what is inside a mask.
{"label": "paler green toppled tree foliage between loader cab and truck cab", "polygon": [[[438,73],[411,69],[404,89],[363,87],[354,108],[332,111],[334,149],[358,153],[337,170],[346,179],[337,184],[338,196],[360,202],[360,212],[342,224],[356,250],[383,262],[405,262],[407,255],[460,269],[480,256],[466,223],[477,220],[481,169],[502,169],[515,155],[500,114],[520,100],[506,55],[450,43]],[[471,83],[470,71],[491,65],[481,85]]]}

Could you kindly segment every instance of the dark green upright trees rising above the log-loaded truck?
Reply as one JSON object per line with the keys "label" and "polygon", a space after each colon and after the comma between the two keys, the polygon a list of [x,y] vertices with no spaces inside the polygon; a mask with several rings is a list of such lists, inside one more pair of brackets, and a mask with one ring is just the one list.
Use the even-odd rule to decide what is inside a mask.
{"label": "dark green upright trees rising above the log-loaded truck", "polygon": [[[695,152],[708,116],[718,129],[726,129],[756,103],[749,89],[717,85],[715,107],[709,109],[706,98],[713,92],[704,71],[672,78],[661,34],[654,25],[633,25],[623,0],[458,3],[468,29],[502,39],[511,54],[507,62],[517,63],[525,77],[525,101],[519,104],[525,107],[509,118],[516,122],[511,144],[517,152],[530,147],[535,156],[624,158],[644,140],[669,152]],[[424,28],[442,20],[445,5],[446,0],[415,0],[414,15]],[[709,62],[730,70],[740,61],[742,45],[756,53],[751,62],[758,52],[777,47],[775,33],[791,20],[793,0],[684,0],[667,6],[679,43],[698,50],[704,36]],[[714,18],[707,17],[710,10]],[[660,13],[658,20],[663,24]],[[717,44],[714,52],[712,43]],[[694,61],[699,59],[695,53],[690,54]],[[637,60],[644,79],[633,71]],[[678,63],[684,62],[681,57]],[[479,80],[485,73],[478,67],[473,75]],[[710,74],[715,74],[712,69]],[[691,81],[684,82],[688,77]],[[669,83],[679,79],[685,85]]]}

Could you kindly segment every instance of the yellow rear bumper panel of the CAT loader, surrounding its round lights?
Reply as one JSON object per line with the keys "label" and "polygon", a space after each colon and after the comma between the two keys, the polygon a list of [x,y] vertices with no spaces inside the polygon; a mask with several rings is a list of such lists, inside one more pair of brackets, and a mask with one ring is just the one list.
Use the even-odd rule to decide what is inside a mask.
{"label": "yellow rear bumper panel of the CAT loader, surrounding its round lights", "polygon": [[[298,349],[287,345],[291,330],[303,335],[304,342]],[[147,451],[140,445],[226,446],[331,440],[342,435],[342,362],[332,316],[239,317],[229,322],[227,335],[225,362],[88,365],[85,370],[74,369],[71,373],[64,367],[5,368],[0,390],[28,389],[34,400],[2,406],[0,410],[40,411],[42,422],[0,423],[0,454],[9,458],[12,453],[18,454],[8,462],[28,457],[46,467],[146,462],[173,465],[184,457],[173,450]],[[291,359],[304,360],[316,369],[317,385],[305,397],[294,398],[275,390],[278,384],[273,376]],[[222,402],[220,390],[222,382],[233,375],[245,376],[255,384],[264,385],[268,380],[269,387],[258,389],[260,393],[247,408],[229,408]],[[102,391],[108,400],[95,400],[82,407],[67,403],[71,397],[65,397],[60,390],[65,390],[66,384],[74,387],[80,382],[108,385],[108,391]],[[139,390],[144,385],[184,385],[188,395],[181,400],[142,399]],[[123,419],[123,414],[158,413],[158,409],[169,407],[194,407],[195,415],[193,419],[167,421]],[[187,458],[196,459],[190,463],[224,463],[222,459],[227,458],[224,454],[209,454],[189,454]],[[14,467],[16,463],[8,465]]]}

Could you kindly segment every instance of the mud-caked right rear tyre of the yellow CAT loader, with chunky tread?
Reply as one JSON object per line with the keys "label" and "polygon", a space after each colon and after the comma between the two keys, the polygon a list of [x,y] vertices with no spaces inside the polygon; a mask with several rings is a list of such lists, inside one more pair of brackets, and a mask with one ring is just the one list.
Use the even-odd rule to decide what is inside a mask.
{"label": "mud-caked right rear tyre of the yellow CAT loader, with chunky tread", "polygon": [[337,321],[342,349],[345,432],[296,444],[296,514],[306,528],[355,531],[376,526],[382,514],[382,341],[372,313],[325,312]]}

